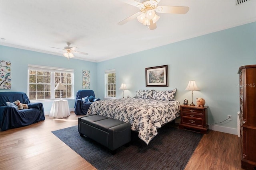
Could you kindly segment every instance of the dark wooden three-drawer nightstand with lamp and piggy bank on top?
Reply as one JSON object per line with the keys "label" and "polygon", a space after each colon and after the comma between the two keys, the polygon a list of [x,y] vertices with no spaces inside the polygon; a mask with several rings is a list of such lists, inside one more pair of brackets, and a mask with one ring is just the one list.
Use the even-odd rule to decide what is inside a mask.
{"label": "dark wooden three-drawer nightstand with lamp and piggy bank on top", "polygon": [[181,105],[180,106],[180,129],[192,129],[206,134],[207,125],[207,108],[208,106],[198,107]]}

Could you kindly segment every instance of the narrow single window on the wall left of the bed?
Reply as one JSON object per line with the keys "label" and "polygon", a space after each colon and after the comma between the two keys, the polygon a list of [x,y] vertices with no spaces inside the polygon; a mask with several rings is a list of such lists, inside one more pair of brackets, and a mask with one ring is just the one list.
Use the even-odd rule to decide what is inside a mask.
{"label": "narrow single window on the wall left of the bed", "polygon": [[105,98],[116,98],[116,70],[105,71]]}

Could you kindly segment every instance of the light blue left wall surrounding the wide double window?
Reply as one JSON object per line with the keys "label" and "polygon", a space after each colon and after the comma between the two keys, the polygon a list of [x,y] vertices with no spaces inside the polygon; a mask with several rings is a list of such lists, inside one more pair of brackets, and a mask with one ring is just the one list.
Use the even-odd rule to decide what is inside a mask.
{"label": "light blue left wall surrounding the wide double window", "polygon": [[[66,57],[6,46],[0,46],[0,60],[11,61],[12,78],[11,90],[1,90],[1,92],[20,91],[27,93],[28,64],[34,64],[74,69],[74,97],[76,96],[76,91],[82,89],[82,70],[90,70],[90,90],[94,90],[95,95],[97,95],[97,63],[76,59],[68,60]],[[45,114],[49,114],[52,101],[44,101],[42,103],[44,104]],[[68,104],[70,109],[74,108],[74,99],[68,100]]]}

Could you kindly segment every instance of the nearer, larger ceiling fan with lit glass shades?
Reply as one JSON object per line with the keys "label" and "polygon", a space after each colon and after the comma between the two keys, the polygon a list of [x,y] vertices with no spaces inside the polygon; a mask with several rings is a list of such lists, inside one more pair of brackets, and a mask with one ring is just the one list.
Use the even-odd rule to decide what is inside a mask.
{"label": "nearer, larger ceiling fan with lit glass shades", "polygon": [[133,14],[132,16],[122,20],[118,25],[123,25],[134,18],[142,23],[143,25],[148,26],[148,29],[156,29],[156,21],[159,20],[160,16],[156,15],[158,13],[169,13],[169,14],[186,14],[189,10],[188,6],[158,6],[160,0],[147,0],[142,3],[136,0],[123,0],[126,4],[136,6],[140,8],[140,12]]}

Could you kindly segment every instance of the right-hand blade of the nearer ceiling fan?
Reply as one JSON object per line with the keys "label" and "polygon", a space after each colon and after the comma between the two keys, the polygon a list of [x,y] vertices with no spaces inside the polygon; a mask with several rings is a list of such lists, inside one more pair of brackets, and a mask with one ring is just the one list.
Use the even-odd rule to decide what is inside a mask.
{"label": "right-hand blade of the nearer ceiling fan", "polygon": [[188,6],[158,6],[156,8],[156,12],[170,14],[186,14],[188,10]]}

